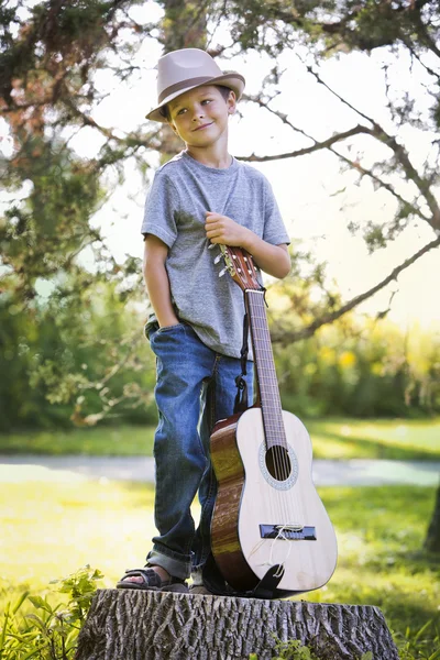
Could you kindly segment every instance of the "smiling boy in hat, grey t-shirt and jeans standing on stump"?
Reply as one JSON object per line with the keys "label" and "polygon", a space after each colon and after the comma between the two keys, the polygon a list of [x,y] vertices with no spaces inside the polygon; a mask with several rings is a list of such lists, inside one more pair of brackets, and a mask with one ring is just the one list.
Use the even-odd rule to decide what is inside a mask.
{"label": "smiling boy in hat, grey t-shirt and jeans standing on stump", "polygon": [[[223,74],[205,51],[184,48],[158,62],[158,106],[146,118],[167,122],[186,148],[158,168],[142,233],[144,278],[154,315],[145,332],[156,355],[158,426],[155,524],[145,569],[127,571],[121,588],[206,593],[216,480],[209,460],[213,422],[233,414],[244,304],[229,275],[219,278],[216,244],[248,250],[270,275],[290,270],[288,235],[271,187],[228,152],[228,119],[244,78]],[[218,250],[217,250],[218,252]],[[248,363],[252,391],[252,363]],[[190,505],[198,493],[200,522]]]}

